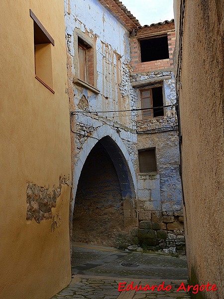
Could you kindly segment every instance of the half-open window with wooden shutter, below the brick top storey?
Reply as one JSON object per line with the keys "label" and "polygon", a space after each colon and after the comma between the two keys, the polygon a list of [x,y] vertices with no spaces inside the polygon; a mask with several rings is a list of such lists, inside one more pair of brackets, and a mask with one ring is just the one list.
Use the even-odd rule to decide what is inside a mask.
{"label": "half-open window with wooden shutter, below the brick top storey", "polygon": [[[163,89],[162,86],[141,90],[141,108],[151,108],[142,110],[142,118],[164,116],[163,109]],[[159,107],[159,108],[156,108]]]}

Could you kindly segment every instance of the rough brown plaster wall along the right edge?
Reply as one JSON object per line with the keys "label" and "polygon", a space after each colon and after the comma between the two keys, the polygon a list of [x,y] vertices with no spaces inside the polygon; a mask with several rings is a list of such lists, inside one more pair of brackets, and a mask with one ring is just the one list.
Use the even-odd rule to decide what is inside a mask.
{"label": "rough brown plaster wall along the right edge", "polygon": [[[179,35],[180,1],[174,2]],[[184,19],[180,116],[189,278],[192,284],[218,286],[216,292],[193,298],[224,298],[224,35],[222,5],[217,5],[221,2],[186,1]],[[177,62],[177,54],[175,58]]]}

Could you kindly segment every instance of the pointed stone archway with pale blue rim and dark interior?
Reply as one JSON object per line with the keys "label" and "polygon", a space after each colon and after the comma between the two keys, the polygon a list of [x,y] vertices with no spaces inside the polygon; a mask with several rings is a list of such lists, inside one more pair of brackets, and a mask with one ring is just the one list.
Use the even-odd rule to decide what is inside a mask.
{"label": "pointed stone archway with pale blue rim and dark interior", "polygon": [[[113,130],[100,129],[94,134],[99,141],[89,138],[77,160],[73,240],[122,246],[132,227],[137,227],[135,173],[120,137]],[[104,132],[111,136],[100,138]]]}

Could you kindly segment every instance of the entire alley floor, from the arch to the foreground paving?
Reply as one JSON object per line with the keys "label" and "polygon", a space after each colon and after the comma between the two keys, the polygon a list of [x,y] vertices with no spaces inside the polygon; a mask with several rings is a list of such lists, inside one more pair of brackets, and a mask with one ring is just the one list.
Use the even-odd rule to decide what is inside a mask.
{"label": "entire alley floor, from the arch to the foreground paving", "polygon": [[[187,286],[185,257],[170,257],[113,248],[72,244],[72,282],[52,299],[187,299],[181,283]],[[125,284],[126,283],[126,284]],[[163,284],[168,291],[158,291]],[[120,284],[120,285],[119,285]],[[126,290],[132,284],[154,291]],[[141,286],[141,288],[140,288]],[[118,287],[120,290],[118,291]],[[129,287],[130,288],[130,287]],[[149,287],[148,287],[149,288]]]}

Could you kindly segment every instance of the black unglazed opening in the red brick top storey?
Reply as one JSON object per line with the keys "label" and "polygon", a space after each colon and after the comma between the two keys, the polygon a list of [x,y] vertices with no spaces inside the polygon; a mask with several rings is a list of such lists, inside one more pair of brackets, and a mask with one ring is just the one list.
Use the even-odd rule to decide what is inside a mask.
{"label": "black unglazed opening in the red brick top storey", "polygon": [[140,40],[141,62],[169,59],[167,34]]}

